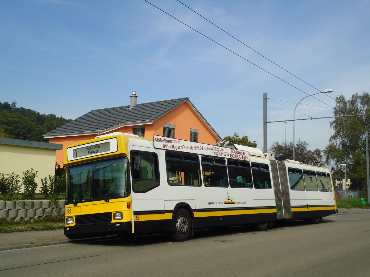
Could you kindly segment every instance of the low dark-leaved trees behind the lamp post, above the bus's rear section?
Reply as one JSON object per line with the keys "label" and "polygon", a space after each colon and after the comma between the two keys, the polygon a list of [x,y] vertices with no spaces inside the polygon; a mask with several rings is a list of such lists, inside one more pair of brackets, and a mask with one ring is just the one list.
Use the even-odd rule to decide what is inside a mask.
{"label": "low dark-leaved trees behind the lamp post, above the bus's rear section", "polygon": [[[314,165],[323,166],[323,156],[321,150],[316,148],[315,150],[308,149],[309,144],[306,141],[298,140],[295,147],[295,157],[297,161],[300,161],[303,164],[311,164],[310,161],[314,161]],[[293,157],[293,142],[285,144],[279,143],[277,141],[273,142],[272,146],[269,148],[271,154],[275,154],[275,157]],[[299,159],[299,158],[302,158]],[[304,159],[304,160],[303,160]]]}

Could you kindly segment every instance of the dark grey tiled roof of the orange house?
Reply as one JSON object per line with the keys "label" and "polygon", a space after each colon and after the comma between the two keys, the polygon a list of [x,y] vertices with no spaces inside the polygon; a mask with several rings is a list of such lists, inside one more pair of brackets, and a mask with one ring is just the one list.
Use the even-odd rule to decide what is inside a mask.
{"label": "dark grey tiled roof of the orange house", "polygon": [[[64,124],[63,126],[60,126],[57,129],[44,134],[43,136],[52,137],[68,134],[97,133],[98,131],[101,132],[120,124],[154,121],[164,114],[168,113],[175,107],[184,103],[186,100],[189,101],[189,98],[186,97],[150,103],[141,103],[137,104],[131,109],[130,106],[127,105],[121,107],[92,110],[88,113],[85,113],[83,116],[80,116],[77,119]],[[194,107],[194,105],[192,106]],[[194,109],[196,108],[194,107]],[[199,113],[198,110],[197,112]],[[201,113],[199,114],[202,116]],[[203,116],[202,118],[205,120]],[[211,125],[209,125],[209,127],[212,128]],[[216,133],[213,128],[212,130]]]}

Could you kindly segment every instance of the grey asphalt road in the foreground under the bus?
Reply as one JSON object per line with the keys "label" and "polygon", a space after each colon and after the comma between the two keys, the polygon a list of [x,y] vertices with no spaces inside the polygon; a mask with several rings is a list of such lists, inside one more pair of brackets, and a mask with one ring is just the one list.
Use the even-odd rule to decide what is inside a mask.
{"label": "grey asphalt road in the foreground under the bus", "polygon": [[370,210],[341,210],[318,225],[265,232],[202,230],[0,252],[0,276],[369,276]]}

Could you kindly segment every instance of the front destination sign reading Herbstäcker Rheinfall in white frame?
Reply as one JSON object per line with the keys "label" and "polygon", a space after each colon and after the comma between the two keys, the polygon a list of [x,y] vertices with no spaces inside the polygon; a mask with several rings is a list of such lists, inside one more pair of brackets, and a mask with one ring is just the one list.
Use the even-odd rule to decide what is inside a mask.
{"label": "front destination sign reading Herbst\u00e4cker Rheinfall in white frame", "polygon": [[117,138],[84,144],[67,148],[67,160],[73,161],[81,158],[117,152]]}

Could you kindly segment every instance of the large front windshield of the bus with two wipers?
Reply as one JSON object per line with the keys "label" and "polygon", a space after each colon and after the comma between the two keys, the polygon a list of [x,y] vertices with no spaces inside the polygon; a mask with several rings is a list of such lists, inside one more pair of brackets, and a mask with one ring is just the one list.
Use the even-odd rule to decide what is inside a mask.
{"label": "large front windshield of the bus with two wipers", "polygon": [[127,157],[67,168],[66,203],[108,201],[129,193]]}

